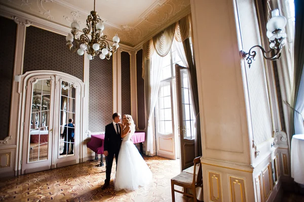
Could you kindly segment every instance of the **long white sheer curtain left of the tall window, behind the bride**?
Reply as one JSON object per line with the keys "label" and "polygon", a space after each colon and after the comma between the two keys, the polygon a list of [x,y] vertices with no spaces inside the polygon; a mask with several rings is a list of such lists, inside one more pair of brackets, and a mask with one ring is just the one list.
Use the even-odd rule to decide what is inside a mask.
{"label": "long white sheer curtain left of the tall window, behind the bride", "polygon": [[155,153],[154,142],[154,127],[153,127],[153,112],[158,99],[158,92],[161,84],[162,73],[162,60],[163,57],[159,56],[156,52],[151,57],[151,69],[150,69],[150,85],[148,96],[150,99],[149,107],[146,107],[146,114],[148,115],[148,129],[147,129],[147,149],[146,155]]}

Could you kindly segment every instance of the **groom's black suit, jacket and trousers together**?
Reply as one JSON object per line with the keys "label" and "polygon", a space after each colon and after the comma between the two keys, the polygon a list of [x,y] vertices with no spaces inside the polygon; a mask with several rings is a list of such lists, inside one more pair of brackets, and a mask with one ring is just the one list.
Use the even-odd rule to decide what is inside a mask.
{"label": "groom's black suit, jacket and trousers together", "polygon": [[115,154],[115,160],[117,165],[118,160],[118,154],[119,150],[122,144],[122,138],[121,133],[122,130],[118,124],[119,128],[119,134],[116,133],[116,130],[114,128],[113,123],[110,123],[105,126],[105,135],[104,135],[104,144],[103,144],[103,150],[108,151],[108,155],[105,157],[106,159],[106,170],[105,170],[105,176],[106,179],[104,181],[104,184],[109,184],[110,182],[110,175],[113,165],[113,158]]}

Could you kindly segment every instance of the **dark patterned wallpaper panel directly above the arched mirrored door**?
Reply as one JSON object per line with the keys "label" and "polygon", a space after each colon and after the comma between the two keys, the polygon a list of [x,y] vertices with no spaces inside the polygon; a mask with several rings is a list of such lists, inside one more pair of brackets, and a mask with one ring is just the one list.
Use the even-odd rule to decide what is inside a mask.
{"label": "dark patterned wallpaper panel directly above the arched mirrored door", "polygon": [[23,73],[55,70],[83,80],[83,57],[66,47],[65,36],[34,26],[26,28]]}

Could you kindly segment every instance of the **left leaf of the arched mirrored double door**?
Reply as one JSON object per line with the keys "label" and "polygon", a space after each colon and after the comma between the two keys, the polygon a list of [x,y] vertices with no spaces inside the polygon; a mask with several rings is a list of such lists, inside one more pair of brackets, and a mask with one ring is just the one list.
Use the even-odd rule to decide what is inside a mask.
{"label": "left leaf of the arched mirrored double door", "polygon": [[26,91],[22,173],[50,169],[53,141],[54,77],[29,80]]}

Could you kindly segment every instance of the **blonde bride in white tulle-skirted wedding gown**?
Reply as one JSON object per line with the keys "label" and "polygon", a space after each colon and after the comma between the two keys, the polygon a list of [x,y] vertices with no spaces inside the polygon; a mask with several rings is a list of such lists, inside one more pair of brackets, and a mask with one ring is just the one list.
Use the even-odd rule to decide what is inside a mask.
{"label": "blonde bride in white tulle-skirted wedding gown", "polygon": [[123,116],[122,145],[119,151],[115,190],[135,190],[152,180],[152,173],[133,144],[135,125],[131,115]]}

